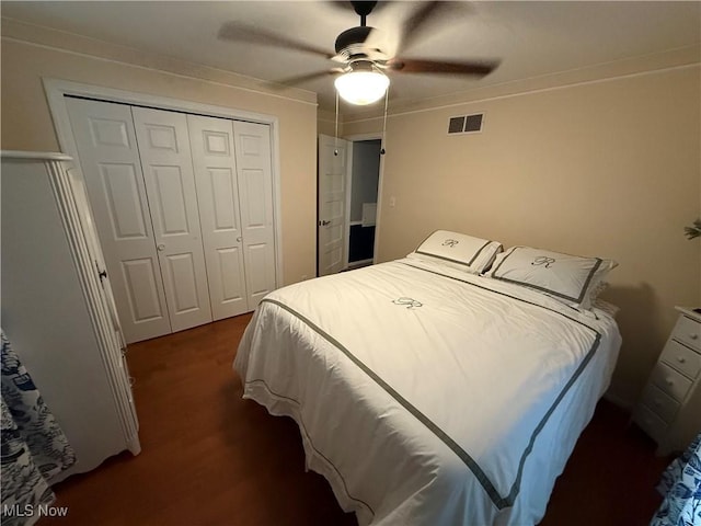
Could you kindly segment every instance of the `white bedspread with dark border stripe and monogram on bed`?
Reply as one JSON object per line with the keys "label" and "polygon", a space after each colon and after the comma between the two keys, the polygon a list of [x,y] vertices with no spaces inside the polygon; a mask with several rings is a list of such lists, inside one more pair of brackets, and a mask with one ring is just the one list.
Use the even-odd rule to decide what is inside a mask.
{"label": "white bedspread with dark border stripe and monogram on bed", "polygon": [[405,259],[272,293],[234,368],[360,526],[530,525],[618,356],[597,315]]}

